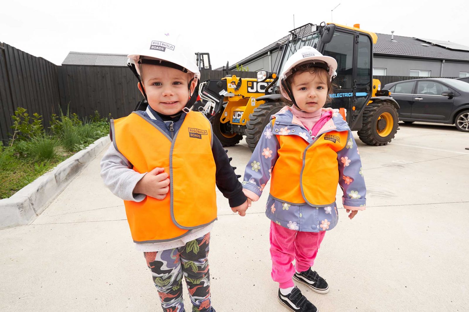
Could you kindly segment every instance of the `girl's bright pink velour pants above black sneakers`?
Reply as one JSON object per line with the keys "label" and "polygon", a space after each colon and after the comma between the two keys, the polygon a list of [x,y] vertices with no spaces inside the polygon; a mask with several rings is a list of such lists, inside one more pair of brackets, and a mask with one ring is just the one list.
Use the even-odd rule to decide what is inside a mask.
{"label": "girl's bright pink velour pants above black sneakers", "polygon": [[[272,279],[280,284],[280,288],[295,286],[292,280],[295,268],[296,271],[303,272],[313,266],[324,234],[325,231],[315,233],[290,230],[271,221]],[[292,264],[293,259],[295,267]]]}

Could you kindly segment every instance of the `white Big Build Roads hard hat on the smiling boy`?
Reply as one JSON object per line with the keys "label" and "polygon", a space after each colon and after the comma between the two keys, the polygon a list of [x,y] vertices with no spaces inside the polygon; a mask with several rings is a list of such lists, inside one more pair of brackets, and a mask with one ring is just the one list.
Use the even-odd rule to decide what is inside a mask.
{"label": "white Big Build Roads hard hat on the smiling boy", "polygon": [[[166,33],[153,36],[145,41],[134,53],[127,56],[129,58],[128,64],[134,64],[139,75],[138,64],[154,64],[193,73],[194,79],[198,80],[200,79],[200,72],[196,63],[196,56],[187,44],[188,41],[184,40],[181,35]],[[179,66],[174,66],[171,63]]]}

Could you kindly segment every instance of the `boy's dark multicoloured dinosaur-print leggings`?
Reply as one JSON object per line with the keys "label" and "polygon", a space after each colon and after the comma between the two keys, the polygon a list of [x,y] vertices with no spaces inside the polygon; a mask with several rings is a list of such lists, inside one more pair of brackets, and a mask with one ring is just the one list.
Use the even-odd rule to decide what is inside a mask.
{"label": "boy's dark multicoloured dinosaur-print leggings", "polygon": [[210,233],[185,246],[144,252],[164,312],[184,312],[182,275],[189,290],[193,312],[211,312],[210,273],[207,261]]}

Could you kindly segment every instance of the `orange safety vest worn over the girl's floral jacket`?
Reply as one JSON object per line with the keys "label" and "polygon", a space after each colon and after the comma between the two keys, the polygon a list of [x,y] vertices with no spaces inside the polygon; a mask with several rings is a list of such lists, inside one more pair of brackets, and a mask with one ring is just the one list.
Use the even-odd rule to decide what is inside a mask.
{"label": "orange safety vest worn over the girl's floral jacket", "polygon": [[329,131],[309,145],[298,135],[276,135],[280,149],[272,169],[271,196],[295,205],[334,203],[339,182],[337,152],[345,147],[347,136],[348,131]]}

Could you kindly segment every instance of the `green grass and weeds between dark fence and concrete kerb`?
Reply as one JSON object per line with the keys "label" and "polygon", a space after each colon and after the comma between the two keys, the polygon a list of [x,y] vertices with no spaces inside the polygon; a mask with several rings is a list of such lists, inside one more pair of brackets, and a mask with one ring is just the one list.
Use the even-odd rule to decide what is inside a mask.
{"label": "green grass and weeds between dark fence and concrete kerb", "polygon": [[18,108],[12,116],[13,134],[8,146],[0,145],[0,199],[52,170],[63,160],[109,133],[107,118],[98,112],[85,120],[68,111],[53,115],[51,126],[44,129],[42,116],[28,115]]}

